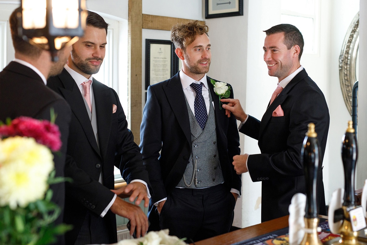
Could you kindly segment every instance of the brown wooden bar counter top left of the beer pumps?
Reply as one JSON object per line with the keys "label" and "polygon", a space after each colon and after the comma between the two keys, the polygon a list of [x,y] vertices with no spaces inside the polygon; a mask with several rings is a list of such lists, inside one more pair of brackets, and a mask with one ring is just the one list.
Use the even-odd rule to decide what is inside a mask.
{"label": "brown wooden bar counter top left of the beer pumps", "polygon": [[249,226],[223,235],[201,240],[195,242],[195,245],[230,245],[236,242],[258,237],[272,231],[280,230],[285,227],[288,227],[288,216],[269,220],[264,223],[255,224],[254,226]]}

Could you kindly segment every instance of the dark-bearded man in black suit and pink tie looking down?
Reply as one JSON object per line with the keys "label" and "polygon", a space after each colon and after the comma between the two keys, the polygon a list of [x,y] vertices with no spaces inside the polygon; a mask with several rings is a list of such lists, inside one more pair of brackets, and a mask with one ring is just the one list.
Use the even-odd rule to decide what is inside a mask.
{"label": "dark-bearded man in black suit and pink tie looking down", "polygon": [[[64,221],[74,227],[65,235],[68,244],[117,242],[116,214],[130,220],[131,235],[135,228],[138,237],[148,230],[148,218],[137,206],[142,200],[148,206],[150,197],[140,149],[116,91],[93,78],[105,57],[107,30],[105,20],[88,11],[84,36],[73,44],[68,64],[47,82],[73,112],[65,169],[73,179],[66,184]],[[114,166],[128,183],[117,191]],[[137,199],[132,204],[117,194]]]}

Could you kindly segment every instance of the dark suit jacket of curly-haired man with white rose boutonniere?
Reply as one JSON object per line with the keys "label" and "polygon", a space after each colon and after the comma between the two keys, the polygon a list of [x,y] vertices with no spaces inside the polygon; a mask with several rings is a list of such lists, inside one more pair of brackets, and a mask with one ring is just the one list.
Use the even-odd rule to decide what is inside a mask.
{"label": "dark suit jacket of curly-haired man with white rose boutonniere", "polygon": [[[241,191],[241,176],[236,174],[233,156],[240,154],[239,134],[235,117],[228,118],[219,108],[218,96],[207,77],[214,101],[219,162],[224,183],[230,191]],[[218,81],[216,81],[218,82]],[[233,98],[233,90],[230,90]],[[210,105],[212,106],[212,104]],[[153,195],[148,218],[153,229],[159,229],[153,203],[166,198],[182,179],[191,154],[191,130],[179,72],[172,78],[148,87],[140,128],[140,148],[149,172]]]}

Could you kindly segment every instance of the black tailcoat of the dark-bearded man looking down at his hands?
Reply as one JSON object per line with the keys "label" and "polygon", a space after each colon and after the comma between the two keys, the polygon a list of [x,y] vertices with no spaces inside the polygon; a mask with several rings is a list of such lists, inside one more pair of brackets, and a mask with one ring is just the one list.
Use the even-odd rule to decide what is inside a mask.
{"label": "black tailcoat of the dark-bearded man looking down at his hands", "polygon": [[[59,93],[72,109],[65,174],[74,182],[66,184],[65,223],[74,229],[66,233],[66,242],[74,244],[87,210],[100,215],[114,194],[113,166],[127,183],[140,179],[149,184],[148,173],[134,137],[127,128],[126,116],[115,90],[93,79],[92,88],[97,113],[99,149],[83,96],[72,76],[63,69],[51,77],[47,86]],[[113,105],[117,111],[112,113]],[[98,182],[102,170],[103,185]],[[117,242],[116,215],[104,216],[110,242]],[[92,234],[93,235],[93,234]]]}

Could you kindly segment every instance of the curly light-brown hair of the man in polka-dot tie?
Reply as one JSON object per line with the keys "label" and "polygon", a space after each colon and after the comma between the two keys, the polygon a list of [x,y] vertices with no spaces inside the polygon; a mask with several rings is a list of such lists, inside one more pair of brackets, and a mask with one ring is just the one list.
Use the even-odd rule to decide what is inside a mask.
{"label": "curly light-brown hair of the man in polka-dot tie", "polygon": [[176,48],[185,50],[192,42],[195,41],[196,35],[208,35],[208,26],[201,24],[200,21],[190,21],[187,24],[176,24],[171,28],[171,41]]}

